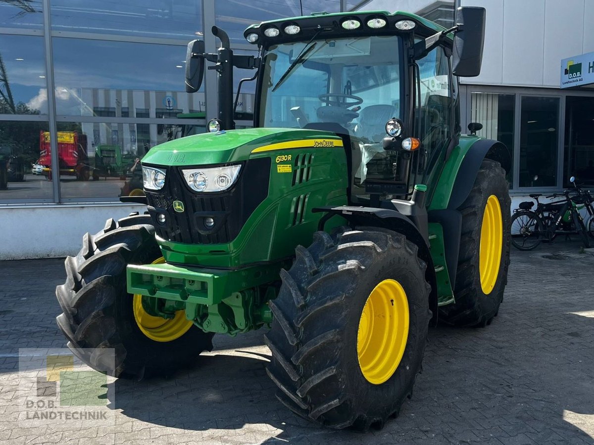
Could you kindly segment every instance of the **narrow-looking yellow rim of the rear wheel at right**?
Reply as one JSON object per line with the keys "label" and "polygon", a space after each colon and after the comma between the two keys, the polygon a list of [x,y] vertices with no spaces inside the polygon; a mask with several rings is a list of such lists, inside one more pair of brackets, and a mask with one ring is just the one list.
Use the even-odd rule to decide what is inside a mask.
{"label": "narrow-looking yellow rim of the rear wheel at right", "polygon": [[501,206],[497,196],[491,195],[486,200],[481,227],[481,247],[479,248],[479,271],[481,272],[481,288],[484,294],[490,294],[497,282],[502,246]]}

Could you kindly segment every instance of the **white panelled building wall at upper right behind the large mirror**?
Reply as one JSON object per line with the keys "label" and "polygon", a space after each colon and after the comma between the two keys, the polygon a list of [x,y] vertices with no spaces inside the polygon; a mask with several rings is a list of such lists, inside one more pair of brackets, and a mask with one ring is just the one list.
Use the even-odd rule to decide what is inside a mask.
{"label": "white panelled building wall at upper right behind the large mirror", "polygon": [[461,0],[486,9],[481,75],[467,84],[559,87],[561,59],[594,51],[592,0]]}

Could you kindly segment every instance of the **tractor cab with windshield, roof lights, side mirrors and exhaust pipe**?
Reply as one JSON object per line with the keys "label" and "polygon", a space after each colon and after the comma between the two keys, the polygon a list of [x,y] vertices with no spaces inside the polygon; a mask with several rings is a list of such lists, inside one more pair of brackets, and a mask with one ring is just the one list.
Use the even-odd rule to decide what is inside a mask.
{"label": "tractor cab with windshield, roof lights, side mirrors and exhaust pipe", "polygon": [[432,179],[460,134],[453,74],[477,75],[480,68],[483,12],[460,8],[450,30],[386,11],[268,21],[244,33],[258,58],[233,55],[225,32],[213,27],[222,42],[217,54],[197,52],[199,41],[188,45],[187,91],[197,91],[204,60],[216,62],[210,68],[220,74],[220,111],[209,128],[233,129],[228,66],[257,69],[254,126],[340,136],[349,204],[410,201],[415,185],[429,185],[431,196]]}

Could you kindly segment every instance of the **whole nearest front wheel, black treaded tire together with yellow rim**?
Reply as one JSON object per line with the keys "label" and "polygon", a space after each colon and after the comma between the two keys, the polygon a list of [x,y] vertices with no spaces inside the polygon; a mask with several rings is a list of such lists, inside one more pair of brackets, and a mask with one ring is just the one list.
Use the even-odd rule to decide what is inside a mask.
{"label": "whole nearest front wheel, black treaded tire together with yellow rim", "polygon": [[[421,371],[431,318],[425,268],[415,244],[377,227],[342,228],[333,236],[319,231],[308,249],[298,246],[293,266],[281,271],[279,296],[269,303],[273,322],[265,336],[272,352],[267,373],[279,389],[280,402],[335,429],[379,429],[396,417]],[[384,293],[386,288],[374,294],[384,282],[399,283],[402,294]],[[370,338],[380,339],[367,335],[378,333],[373,321],[361,323],[360,329],[373,295],[381,297],[386,310],[372,310],[368,320],[378,326],[383,326],[377,321],[382,316],[391,320],[387,325],[408,322],[406,336],[384,335],[384,344],[373,348],[371,358],[390,363],[376,383],[364,374],[369,367],[360,364],[374,366],[374,361],[358,352],[367,351]],[[399,306],[402,300],[406,304]],[[394,351],[386,345],[397,345],[397,353],[384,355]]]}

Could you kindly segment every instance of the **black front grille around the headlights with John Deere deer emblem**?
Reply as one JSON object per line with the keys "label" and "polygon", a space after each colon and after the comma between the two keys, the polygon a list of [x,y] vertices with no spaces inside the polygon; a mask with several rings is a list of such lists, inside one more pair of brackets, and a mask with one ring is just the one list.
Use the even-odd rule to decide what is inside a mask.
{"label": "black front grille around the headlights with John Deere deer emblem", "polygon": [[[197,167],[184,167],[188,168]],[[235,185],[219,193],[195,192],[185,182],[181,167],[165,169],[163,189],[157,192],[146,190],[156,234],[165,240],[187,244],[229,243],[268,196],[270,158],[246,161]],[[179,211],[178,205],[176,211],[174,201],[181,201],[184,210]],[[165,222],[159,222],[159,214],[165,215]],[[204,224],[206,218],[213,218],[213,227]]]}

